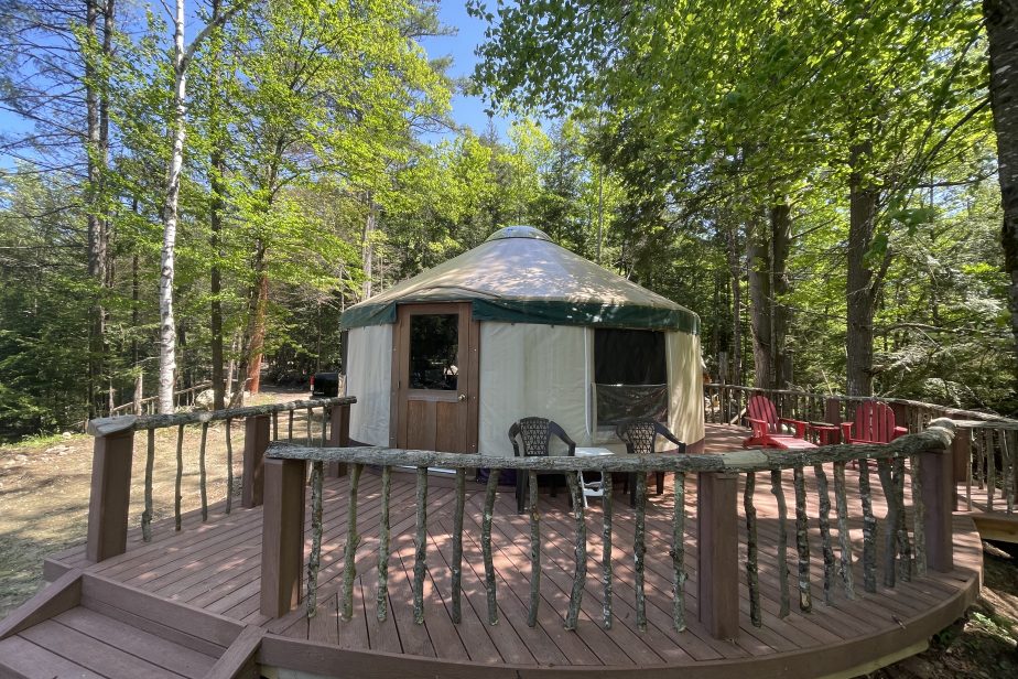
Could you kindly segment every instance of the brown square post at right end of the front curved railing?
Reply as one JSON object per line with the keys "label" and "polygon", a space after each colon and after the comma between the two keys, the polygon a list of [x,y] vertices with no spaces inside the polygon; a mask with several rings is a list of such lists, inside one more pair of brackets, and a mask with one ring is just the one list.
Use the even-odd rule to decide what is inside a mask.
{"label": "brown square post at right end of the front curved railing", "polygon": [[[960,431],[954,438],[967,440],[967,431]],[[954,511],[954,455],[951,451],[935,449],[920,453],[922,476],[922,502],[925,506],[923,529],[927,539],[927,564],[934,571],[954,570],[954,535],[952,513]]]}

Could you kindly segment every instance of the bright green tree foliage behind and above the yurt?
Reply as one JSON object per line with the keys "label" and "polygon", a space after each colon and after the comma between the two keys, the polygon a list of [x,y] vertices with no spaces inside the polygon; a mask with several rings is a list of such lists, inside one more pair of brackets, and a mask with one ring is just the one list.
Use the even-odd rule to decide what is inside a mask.
{"label": "bright green tree foliage behind and above the yurt", "polygon": [[[68,75],[47,83],[13,37],[56,40],[30,4],[0,18],[18,29],[4,34],[0,90],[26,119],[40,91],[63,98],[37,116],[59,142],[0,175],[0,438],[87,417],[94,302],[106,310],[100,388],[122,403],[141,376],[152,392],[173,119],[159,13],[126,12],[109,56],[63,26]],[[475,86],[518,116],[506,139],[451,131],[447,62],[415,42],[447,31],[432,2],[251,3],[202,45],[180,206],[181,386],[209,377],[213,301],[227,362],[250,358],[261,326],[272,377],[303,381],[338,367],[339,314],[367,283],[377,293],[515,223],[698,312],[707,363],[741,356],[729,378],[748,381],[746,248],[788,204],[789,291],[770,301],[790,312],[794,385],[840,391],[848,193],[864,186],[877,197],[864,262],[876,389],[1008,408],[977,4],[469,8],[490,24]],[[110,116],[99,194],[77,170],[91,147],[71,93],[86,64]],[[429,143],[422,131],[443,133]],[[104,284],[87,272],[86,209],[112,234]]]}

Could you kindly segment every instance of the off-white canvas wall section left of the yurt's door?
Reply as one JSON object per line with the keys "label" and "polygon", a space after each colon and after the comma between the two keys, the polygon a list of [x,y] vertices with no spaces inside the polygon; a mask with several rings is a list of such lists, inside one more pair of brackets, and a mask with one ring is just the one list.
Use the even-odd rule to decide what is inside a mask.
{"label": "off-white canvas wall section left of the yurt's door", "polygon": [[354,327],[347,338],[346,395],[357,397],[350,408],[350,438],[369,445],[389,445],[393,327]]}

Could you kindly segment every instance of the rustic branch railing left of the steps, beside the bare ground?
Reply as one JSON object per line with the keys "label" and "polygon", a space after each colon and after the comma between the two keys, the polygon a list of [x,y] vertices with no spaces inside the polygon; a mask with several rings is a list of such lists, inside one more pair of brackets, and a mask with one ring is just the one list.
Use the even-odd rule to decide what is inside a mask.
{"label": "rustic branch railing left of the steps, beside the bare ground", "polygon": [[[88,538],[86,556],[90,561],[102,561],[124,552],[131,494],[131,466],[134,449],[134,432],[147,433],[144,468],[144,511],[141,515],[142,539],[152,539],[154,516],[153,475],[155,467],[155,432],[159,429],[176,428],[176,477],[174,493],[175,529],[182,529],[182,484],[184,475],[184,433],[189,424],[202,428],[198,448],[198,492],[201,495],[202,520],[208,519],[208,483],[206,450],[208,430],[212,424],[223,422],[226,442],[226,503],[225,511],[230,514],[234,499],[234,441],[235,421],[245,420],[242,442],[243,459],[240,499],[243,507],[254,507],[262,502],[264,484],[263,455],[271,441],[294,438],[294,413],[303,412],[306,435],[305,445],[344,445],[349,436],[349,409],[357,401],[354,397],[310,399],[284,403],[267,403],[226,410],[204,412],[180,412],[153,416],[120,416],[99,418],[88,423],[88,433],[95,436],[93,457],[91,497],[88,509]],[[286,413],[286,430],[280,436],[280,414]],[[337,473],[340,470],[335,470]]]}

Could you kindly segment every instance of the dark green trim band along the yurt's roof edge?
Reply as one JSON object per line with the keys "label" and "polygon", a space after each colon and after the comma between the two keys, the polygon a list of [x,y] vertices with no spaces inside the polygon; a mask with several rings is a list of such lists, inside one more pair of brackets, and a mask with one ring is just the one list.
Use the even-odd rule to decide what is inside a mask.
{"label": "dark green trim band along the yurt's roof edge", "polygon": [[[396,304],[358,304],[343,312],[340,326],[349,330],[396,323]],[[690,335],[700,334],[700,316],[685,309],[563,300],[473,300],[472,309],[475,321],[674,330]]]}

